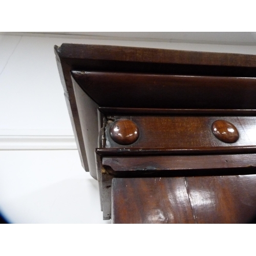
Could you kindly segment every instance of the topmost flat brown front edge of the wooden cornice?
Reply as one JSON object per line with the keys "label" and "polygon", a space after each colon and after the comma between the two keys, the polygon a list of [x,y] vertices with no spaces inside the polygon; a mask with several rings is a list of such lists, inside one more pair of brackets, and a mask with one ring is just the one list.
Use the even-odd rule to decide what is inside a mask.
{"label": "topmost flat brown front edge of the wooden cornice", "polygon": [[116,60],[127,62],[175,63],[183,65],[221,65],[256,67],[256,56],[236,53],[182,51],[104,45],[62,44],[56,47],[61,58]]}

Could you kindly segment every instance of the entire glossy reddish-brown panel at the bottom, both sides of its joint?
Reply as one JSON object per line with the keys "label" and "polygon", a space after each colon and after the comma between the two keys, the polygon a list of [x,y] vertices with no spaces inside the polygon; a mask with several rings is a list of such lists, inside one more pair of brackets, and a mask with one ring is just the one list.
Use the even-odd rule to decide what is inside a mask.
{"label": "entire glossy reddish-brown panel at the bottom, both sides of its joint", "polygon": [[115,178],[113,223],[250,223],[256,175]]}

